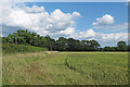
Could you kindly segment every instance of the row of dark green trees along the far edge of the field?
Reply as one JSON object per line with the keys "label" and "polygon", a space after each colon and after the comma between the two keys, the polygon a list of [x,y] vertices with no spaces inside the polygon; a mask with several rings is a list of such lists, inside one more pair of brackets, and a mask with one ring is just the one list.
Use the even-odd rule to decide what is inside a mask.
{"label": "row of dark green trees along the far edge of the field", "polygon": [[40,36],[27,29],[18,29],[16,33],[2,37],[2,42],[12,45],[30,45],[48,48],[53,51],[129,51],[130,46],[125,41],[118,41],[116,47],[103,47],[96,40],[78,40],[74,38],[60,37],[57,40],[50,36]]}

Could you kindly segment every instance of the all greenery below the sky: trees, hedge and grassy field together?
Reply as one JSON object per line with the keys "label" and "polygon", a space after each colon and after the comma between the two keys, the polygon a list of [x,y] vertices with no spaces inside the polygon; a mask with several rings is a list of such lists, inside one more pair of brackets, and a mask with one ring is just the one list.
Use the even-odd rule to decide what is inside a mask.
{"label": "all greenery below the sky: trees, hedge and grassy field together", "polygon": [[2,42],[3,85],[128,84],[128,52],[67,52],[129,51],[125,41],[101,48],[96,40],[55,40],[20,29],[2,37]]}

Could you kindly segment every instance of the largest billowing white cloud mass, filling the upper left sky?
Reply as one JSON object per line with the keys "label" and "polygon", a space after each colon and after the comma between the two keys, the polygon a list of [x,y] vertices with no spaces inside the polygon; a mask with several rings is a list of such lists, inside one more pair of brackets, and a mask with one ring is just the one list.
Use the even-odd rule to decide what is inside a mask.
{"label": "largest billowing white cloud mass, filling the upper left sky", "polygon": [[[43,7],[9,7],[4,9],[3,15],[0,16],[2,25],[17,26],[28,28],[42,36],[46,34],[61,33],[70,35],[75,32],[76,20],[80,17],[80,13],[64,13],[60,9],[54,10],[51,14],[44,11]],[[65,33],[65,34],[64,34]],[[54,34],[53,34],[54,35]]]}

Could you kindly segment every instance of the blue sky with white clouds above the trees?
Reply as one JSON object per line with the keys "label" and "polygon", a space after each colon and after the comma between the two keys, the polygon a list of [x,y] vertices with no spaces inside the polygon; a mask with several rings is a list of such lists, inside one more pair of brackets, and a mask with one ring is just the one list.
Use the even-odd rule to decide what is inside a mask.
{"label": "blue sky with white clouds above the trees", "polygon": [[2,36],[28,29],[55,39],[95,39],[103,47],[128,40],[126,2],[5,2],[0,9]]}

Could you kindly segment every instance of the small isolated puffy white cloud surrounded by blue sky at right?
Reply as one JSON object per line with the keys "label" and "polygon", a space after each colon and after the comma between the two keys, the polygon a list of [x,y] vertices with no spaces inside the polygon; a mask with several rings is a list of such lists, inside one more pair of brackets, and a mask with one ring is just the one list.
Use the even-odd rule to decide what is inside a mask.
{"label": "small isolated puffy white cloud surrounded by blue sky at right", "polygon": [[114,24],[114,17],[112,15],[105,14],[100,18],[96,18],[96,22],[92,23],[92,25],[109,25]]}

